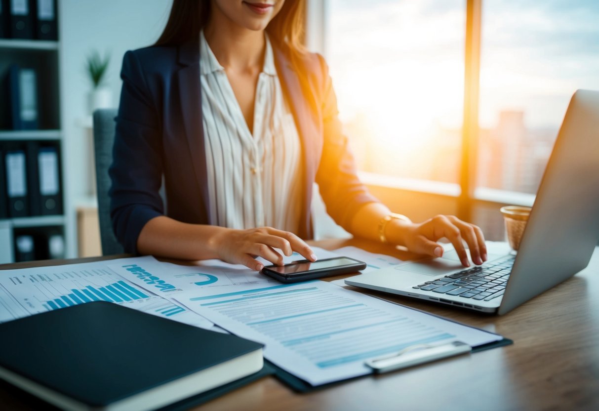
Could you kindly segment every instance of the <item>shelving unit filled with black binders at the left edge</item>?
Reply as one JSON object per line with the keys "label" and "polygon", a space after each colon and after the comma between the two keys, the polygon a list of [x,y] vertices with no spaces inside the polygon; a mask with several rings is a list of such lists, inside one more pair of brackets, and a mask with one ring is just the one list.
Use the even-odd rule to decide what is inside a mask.
{"label": "shelving unit filled with black binders at the left edge", "polygon": [[[41,13],[37,13],[35,8],[36,4],[41,3],[48,4],[46,0],[28,2],[32,10],[28,11],[30,16],[26,24],[41,23],[38,21],[41,20],[38,19]],[[53,5],[54,24],[58,17],[56,3]],[[7,38],[0,38],[0,113],[3,113],[0,115],[0,153],[4,156],[4,170],[0,173],[0,178],[5,180],[4,192],[1,194],[6,200],[2,201],[5,212],[0,214],[0,247],[8,251],[0,253],[0,263],[64,258],[72,239],[68,238],[65,214],[63,131],[60,121],[60,39],[37,40],[35,37],[40,35],[37,34],[36,27],[33,30],[34,38],[10,38],[14,33],[10,32],[9,16],[5,15],[4,18],[7,19],[4,21],[7,22],[9,32],[2,33]],[[35,72],[37,125],[26,127],[28,129],[14,129],[14,116],[11,114],[14,98],[11,97],[11,90],[16,88],[16,81],[9,75],[14,65],[21,69],[20,72],[23,69],[33,69]],[[19,77],[19,87],[24,87],[20,81],[22,79]],[[27,201],[26,211],[17,216],[14,211],[11,212],[8,201],[8,183],[11,177],[8,176],[10,167],[7,164],[7,153],[20,151],[25,153],[24,198]],[[50,158],[44,157],[46,152],[53,154]],[[14,174],[14,169],[11,173]],[[36,187],[38,191],[35,191]],[[53,196],[51,199],[46,196],[49,192]],[[25,215],[21,215],[23,213]]]}

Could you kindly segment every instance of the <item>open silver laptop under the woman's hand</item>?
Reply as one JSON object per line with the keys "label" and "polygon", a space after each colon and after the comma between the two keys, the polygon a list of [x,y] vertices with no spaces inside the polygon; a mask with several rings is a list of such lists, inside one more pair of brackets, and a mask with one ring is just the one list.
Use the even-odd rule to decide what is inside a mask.
{"label": "open silver laptop under the woman's hand", "polygon": [[442,258],[350,277],[345,283],[502,315],[585,268],[598,241],[599,92],[577,90],[518,253],[507,247],[497,253],[489,247],[485,264],[464,269],[454,250]]}

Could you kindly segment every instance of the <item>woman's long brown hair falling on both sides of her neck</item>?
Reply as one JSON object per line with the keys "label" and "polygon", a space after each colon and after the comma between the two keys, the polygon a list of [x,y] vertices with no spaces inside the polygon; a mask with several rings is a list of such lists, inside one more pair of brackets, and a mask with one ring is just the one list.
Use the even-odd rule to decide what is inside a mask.
{"label": "woman's long brown hair falling on both sides of her neck", "polygon": [[[197,35],[210,19],[210,0],[173,0],[167,26],[154,46],[178,46]],[[304,49],[305,0],[286,0],[268,23],[266,31],[271,41],[292,55]]]}

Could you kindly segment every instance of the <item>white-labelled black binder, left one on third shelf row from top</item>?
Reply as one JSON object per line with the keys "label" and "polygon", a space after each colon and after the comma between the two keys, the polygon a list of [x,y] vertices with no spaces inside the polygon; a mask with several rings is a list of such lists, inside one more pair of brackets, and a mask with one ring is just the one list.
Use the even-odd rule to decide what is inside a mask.
{"label": "white-labelled black binder, left one on third shelf row from top", "polygon": [[4,152],[6,194],[9,217],[29,215],[29,189],[27,179],[27,153],[25,147],[10,144]]}

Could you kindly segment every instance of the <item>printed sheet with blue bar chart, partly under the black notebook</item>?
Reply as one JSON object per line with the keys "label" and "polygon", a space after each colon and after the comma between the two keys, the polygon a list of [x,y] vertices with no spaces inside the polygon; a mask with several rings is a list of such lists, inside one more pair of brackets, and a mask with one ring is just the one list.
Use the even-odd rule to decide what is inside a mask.
{"label": "printed sheet with blue bar chart, partly under the black notebook", "polygon": [[[156,261],[152,256],[111,260],[121,264]],[[108,261],[0,270],[0,322],[63,307],[110,301],[174,321],[211,328],[213,324],[180,304],[123,280]],[[156,293],[157,294],[157,293]]]}

